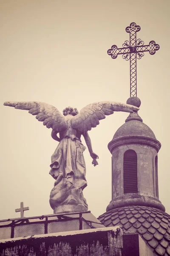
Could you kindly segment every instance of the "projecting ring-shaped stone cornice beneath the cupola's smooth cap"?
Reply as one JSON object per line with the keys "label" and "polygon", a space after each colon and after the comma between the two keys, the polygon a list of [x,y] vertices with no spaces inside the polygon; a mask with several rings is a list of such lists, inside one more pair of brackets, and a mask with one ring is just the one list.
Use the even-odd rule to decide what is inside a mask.
{"label": "projecting ring-shaped stone cornice beneath the cupola's smooth cap", "polygon": [[159,152],[159,149],[161,148],[161,143],[158,140],[146,136],[130,135],[111,140],[108,144],[108,149],[112,154],[114,148],[129,144],[147,145],[155,148],[157,152]]}

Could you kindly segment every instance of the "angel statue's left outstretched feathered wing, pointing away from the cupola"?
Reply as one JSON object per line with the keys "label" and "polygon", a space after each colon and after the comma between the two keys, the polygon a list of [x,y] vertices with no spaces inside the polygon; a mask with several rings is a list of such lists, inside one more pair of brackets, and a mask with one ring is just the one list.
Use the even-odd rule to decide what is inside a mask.
{"label": "angel statue's left outstretched feathered wing, pointing away from the cupola", "polygon": [[43,122],[47,128],[54,131],[62,131],[67,128],[65,118],[57,108],[44,102],[4,102],[5,106],[16,109],[29,110],[29,113],[36,115],[38,121]]}

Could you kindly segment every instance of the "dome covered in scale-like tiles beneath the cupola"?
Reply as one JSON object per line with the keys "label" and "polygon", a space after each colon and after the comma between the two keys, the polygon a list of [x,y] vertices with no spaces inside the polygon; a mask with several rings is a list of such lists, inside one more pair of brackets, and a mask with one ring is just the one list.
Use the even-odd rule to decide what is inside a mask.
{"label": "dome covered in scale-like tiles beneath the cupola", "polygon": [[170,215],[144,206],[125,206],[105,212],[99,221],[120,226],[124,233],[138,233],[156,256],[170,256]]}

